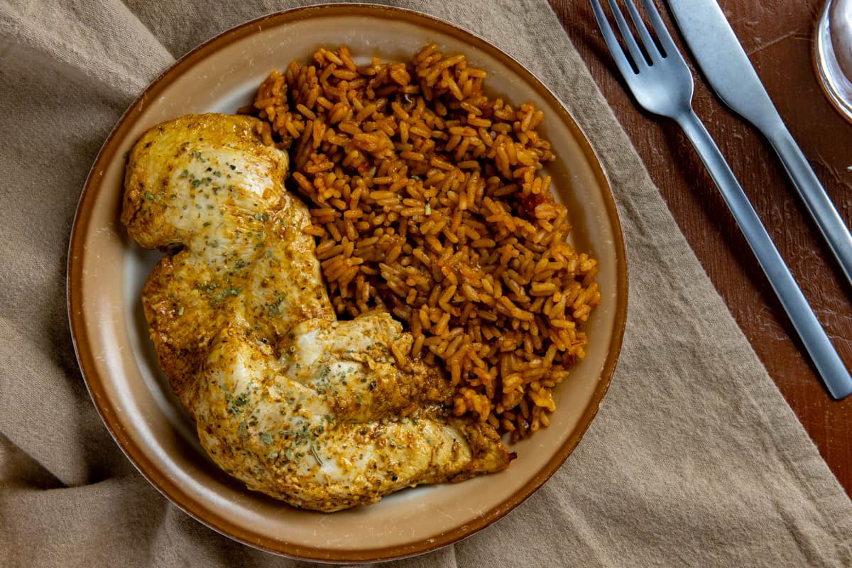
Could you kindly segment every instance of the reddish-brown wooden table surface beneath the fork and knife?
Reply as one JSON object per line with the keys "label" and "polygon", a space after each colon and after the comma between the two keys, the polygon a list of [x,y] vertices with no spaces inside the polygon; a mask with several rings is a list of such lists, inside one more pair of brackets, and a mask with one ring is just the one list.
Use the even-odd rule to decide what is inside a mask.
{"label": "reddish-brown wooden table surface beneath the fork and knife", "polygon": [[[841,485],[852,493],[852,397],[836,402],[822,387],[769,282],[680,129],[635,106],[617,76],[589,1],[550,3],[757,356]],[[852,124],[826,100],[811,60],[822,3],[720,0],[775,106],[849,224]],[[669,14],[661,11],[674,30]],[[723,106],[699,74],[694,75],[696,112],[728,158],[841,356],[852,364],[852,287],[769,144]]]}

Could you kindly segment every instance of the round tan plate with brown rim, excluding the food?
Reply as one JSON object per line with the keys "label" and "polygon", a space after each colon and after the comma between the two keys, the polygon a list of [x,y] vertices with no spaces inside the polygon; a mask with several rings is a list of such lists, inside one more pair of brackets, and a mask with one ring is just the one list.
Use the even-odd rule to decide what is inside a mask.
{"label": "round tan plate with brown rim, excluding the food", "polygon": [[[124,152],[141,133],[189,112],[234,112],[273,69],[320,46],[348,44],[360,58],[408,59],[426,43],[463,52],[490,89],[546,115],[549,167],[571,214],[573,242],[600,261],[602,306],[585,326],[585,359],[557,390],[551,426],[514,446],[508,470],[457,485],[400,491],[339,513],[290,508],[248,491],[210,462],[193,424],[158,370],[141,313],[141,285],[159,254],[139,250],[118,221]],[[579,94],[582,95],[582,94]],[[589,142],[556,96],[480,37],[403,9],[332,4],[253,20],[194,49],[124,113],[95,160],[78,205],[68,255],[68,312],[89,393],[136,468],[179,508],[239,542],[326,562],[394,559],[469,536],[527,499],[560,467],[596,415],[625,329],[627,269],[613,195]]]}

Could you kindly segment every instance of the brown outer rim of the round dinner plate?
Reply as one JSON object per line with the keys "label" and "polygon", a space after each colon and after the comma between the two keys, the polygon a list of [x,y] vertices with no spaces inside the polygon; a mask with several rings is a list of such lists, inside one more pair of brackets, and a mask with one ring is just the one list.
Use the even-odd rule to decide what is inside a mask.
{"label": "brown outer rim of the round dinner plate", "polygon": [[[579,417],[578,427],[575,427],[573,432],[567,437],[562,445],[556,450],[555,454],[550,457],[548,462],[536,473],[532,479],[527,481],[525,485],[518,491],[515,491],[511,496],[500,502],[498,505],[489,508],[486,513],[481,514],[475,519],[462,523],[452,530],[444,531],[439,535],[424,537],[416,542],[405,544],[397,544],[386,547],[364,548],[364,549],[345,549],[345,548],[318,548],[302,546],[296,543],[281,542],[273,540],[253,531],[246,529],[244,526],[230,522],[221,513],[216,513],[215,509],[204,507],[204,503],[190,498],[185,491],[174,481],[168,479],[167,476],[160,473],[152,460],[148,460],[138,449],[135,442],[130,439],[124,432],[121,422],[118,419],[114,404],[103,395],[100,388],[100,376],[95,368],[94,356],[89,344],[89,337],[85,333],[86,316],[81,309],[83,304],[82,299],[82,283],[83,283],[83,256],[85,250],[83,247],[83,238],[85,232],[82,227],[89,226],[89,219],[92,214],[93,205],[95,202],[95,193],[100,185],[99,176],[95,175],[101,164],[107,164],[115,159],[118,153],[118,144],[116,141],[126,135],[126,130],[130,128],[128,119],[130,116],[141,111],[145,105],[145,101],[149,98],[156,98],[158,94],[170,85],[177,77],[180,77],[184,72],[192,68],[199,60],[204,60],[208,55],[216,53],[233,43],[236,40],[242,39],[256,33],[262,33],[265,30],[291,23],[295,20],[303,20],[314,15],[325,15],[333,12],[347,12],[352,14],[352,11],[361,13],[384,12],[386,16],[394,19],[402,20],[423,20],[433,28],[440,32],[445,32],[454,37],[463,40],[464,43],[469,43],[477,49],[486,51],[495,59],[499,60],[504,65],[508,66],[511,71],[517,73],[520,77],[527,79],[527,84],[538,92],[544,99],[556,103],[556,108],[560,112],[561,121],[572,132],[574,140],[577,142],[580,151],[584,154],[587,162],[590,164],[590,169],[595,175],[598,186],[602,192],[603,202],[607,209],[607,218],[612,224],[614,249],[616,253],[616,306],[614,313],[613,335],[610,338],[610,347],[607,352],[607,358],[604,361],[601,374],[598,378],[598,384],[595,387],[592,397],[585,407],[582,415]],[[322,13],[322,14],[320,14]],[[74,353],[78,360],[80,373],[83,376],[83,382],[89,392],[89,397],[95,404],[95,409],[98,415],[101,416],[101,421],[107,427],[107,431],[115,440],[118,447],[122,450],[128,460],[133,464],[136,470],[141,473],[142,477],[147,479],[148,483],[153,485],[164,497],[181,511],[187,513],[190,517],[197,520],[199,523],[209,527],[223,536],[227,536],[234,541],[240,542],[252,548],[257,548],[265,552],[280,554],[293,559],[308,560],[314,562],[325,563],[366,563],[387,561],[393,559],[402,559],[406,557],[416,556],[434,551],[438,548],[443,548],[458,542],[463,538],[471,536],[478,531],[491,525],[498,519],[503,518],[512,509],[517,507],[532,496],[535,491],[544,485],[550,477],[556,473],[561,465],[567,460],[567,457],[573,453],[573,450],[579,444],[580,439],[590,427],[594,420],[597,411],[602,404],[604,396],[607,394],[610,383],[613,379],[613,374],[618,364],[619,354],[625,335],[625,327],[627,323],[627,302],[628,302],[628,278],[627,278],[627,257],[625,253],[625,236],[622,230],[621,219],[619,216],[618,207],[615,202],[612,186],[609,178],[603,169],[602,160],[597,155],[595,149],[591,146],[589,137],[573,117],[573,114],[567,109],[562,100],[532,71],[523,66],[514,57],[499,49],[493,43],[479,36],[475,32],[471,32],[463,26],[458,26],[447,20],[442,20],[430,14],[424,14],[413,9],[404,9],[395,6],[388,6],[376,3],[327,3],[327,4],[311,4],[308,6],[297,7],[293,9],[282,10],[270,14],[262,15],[256,19],[248,20],[237,26],[233,26],[224,32],[216,34],[214,37],[199,44],[196,48],[182,55],[158,77],[154,78],[151,83],[142,90],[141,94],[130,104],[126,111],[118,118],[118,122],[112,127],[110,134],[104,141],[101,149],[89,170],[89,175],[83,184],[83,192],[80,194],[77,209],[75,210],[74,219],[72,222],[71,238],[68,244],[68,252],[66,257],[66,307],[68,311],[69,327],[72,336],[72,345]],[[75,261],[75,258],[78,259]],[[204,512],[212,514],[204,514]],[[211,519],[212,517],[212,519]]]}

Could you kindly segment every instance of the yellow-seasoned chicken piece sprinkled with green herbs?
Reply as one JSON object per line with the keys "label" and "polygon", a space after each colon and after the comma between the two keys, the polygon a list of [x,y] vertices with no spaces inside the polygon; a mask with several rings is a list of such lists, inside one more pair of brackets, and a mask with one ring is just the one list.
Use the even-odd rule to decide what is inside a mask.
{"label": "yellow-seasoned chicken piece sprinkled with green herbs", "polygon": [[287,154],[261,129],[220,114],[160,124],[124,181],[130,236],[167,252],[142,302],[201,445],[250,489],[320,511],[506,468],[496,431],[449,415],[452,388],[408,358],[388,313],[337,321]]}

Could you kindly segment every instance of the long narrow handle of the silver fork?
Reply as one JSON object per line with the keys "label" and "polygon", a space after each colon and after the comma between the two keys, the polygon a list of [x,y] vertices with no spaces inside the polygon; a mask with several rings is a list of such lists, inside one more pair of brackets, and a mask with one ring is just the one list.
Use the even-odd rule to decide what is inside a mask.
{"label": "long narrow handle of the silver fork", "polygon": [[769,278],[769,284],[772,284],[775,294],[778,295],[781,305],[802,339],[828,392],[835,399],[848,396],[852,393],[852,377],[849,376],[849,371],[832,346],[826,331],[822,329],[802,290],[799,290],[784,259],[769,238],[769,233],[766,232],[766,228],[751,207],[746,192],[734,177],[734,172],[731,171],[722,152],[719,152],[716,142],[713,141],[692,108],[673,118],[680,124],[710,172],[713,181],[716,182],[722,198],[746,236],[752,252],[757,256],[757,262]]}

